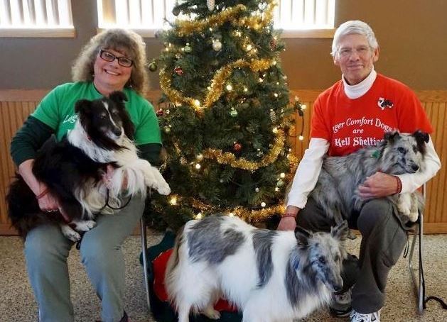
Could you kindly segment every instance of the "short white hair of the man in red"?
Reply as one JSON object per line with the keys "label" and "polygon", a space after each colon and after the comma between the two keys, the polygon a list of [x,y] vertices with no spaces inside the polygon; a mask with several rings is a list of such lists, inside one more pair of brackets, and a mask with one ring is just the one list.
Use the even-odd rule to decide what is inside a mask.
{"label": "short white hair of the man in red", "polygon": [[372,31],[372,28],[367,23],[360,20],[350,20],[342,23],[337,30],[335,30],[334,40],[332,42],[332,52],[330,52],[330,55],[336,58],[339,53],[338,51],[340,50],[340,38],[344,35],[350,35],[352,33],[364,35],[367,38],[368,44],[372,50],[379,47],[374,31]]}

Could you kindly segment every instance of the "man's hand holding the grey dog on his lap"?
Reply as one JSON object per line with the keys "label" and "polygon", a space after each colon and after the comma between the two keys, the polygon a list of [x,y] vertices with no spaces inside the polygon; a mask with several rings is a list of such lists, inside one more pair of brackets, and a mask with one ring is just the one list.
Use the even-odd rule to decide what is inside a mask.
{"label": "man's hand holding the grey dog on his lap", "polygon": [[367,177],[365,182],[358,187],[358,191],[362,199],[390,196],[397,191],[397,180],[392,175],[376,172]]}

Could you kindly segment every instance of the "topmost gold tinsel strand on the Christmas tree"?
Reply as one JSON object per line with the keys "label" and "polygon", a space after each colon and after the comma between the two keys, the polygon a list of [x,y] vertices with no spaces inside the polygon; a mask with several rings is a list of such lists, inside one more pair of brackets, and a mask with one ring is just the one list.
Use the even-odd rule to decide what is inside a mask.
{"label": "topmost gold tinsel strand on the Christmas tree", "polygon": [[235,16],[238,13],[247,11],[246,6],[243,4],[238,4],[237,6],[227,8],[220,13],[216,13],[199,21],[178,21],[174,28],[176,28],[176,33],[180,37],[191,35],[193,33],[200,33],[201,31],[205,30],[205,28],[217,28],[222,26],[227,21],[230,21],[233,26],[247,27],[258,30],[267,26],[273,18],[273,11],[274,7],[276,6],[276,1],[266,0],[266,3],[268,6],[263,16],[254,15],[248,18],[235,19]]}

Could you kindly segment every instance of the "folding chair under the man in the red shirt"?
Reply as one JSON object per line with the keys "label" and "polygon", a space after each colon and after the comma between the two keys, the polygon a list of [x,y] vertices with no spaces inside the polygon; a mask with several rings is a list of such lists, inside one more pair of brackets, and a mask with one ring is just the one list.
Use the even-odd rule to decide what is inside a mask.
{"label": "folding chair under the man in the red shirt", "polygon": [[[426,185],[422,187],[422,194],[424,196],[424,200],[426,200]],[[411,250],[409,253],[409,270],[411,273],[411,280],[414,285],[414,292],[416,294],[417,299],[417,309],[418,313],[424,313],[424,309],[426,309],[426,303],[430,300],[438,301],[443,309],[447,309],[446,303],[442,299],[439,299],[436,296],[426,296],[425,294],[425,278],[424,278],[424,213],[421,211],[419,213],[419,218],[416,221],[416,229],[414,230],[413,240],[411,241]],[[419,266],[413,267],[413,256],[414,256],[414,246],[416,245],[416,239],[419,237]],[[419,273],[419,281],[417,281],[416,274]]]}

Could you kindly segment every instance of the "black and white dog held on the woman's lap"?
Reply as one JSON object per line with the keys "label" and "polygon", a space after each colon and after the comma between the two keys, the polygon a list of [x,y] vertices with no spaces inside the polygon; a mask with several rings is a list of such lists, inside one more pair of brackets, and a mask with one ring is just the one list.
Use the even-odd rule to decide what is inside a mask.
{"label": "black and white dog held on the woman's lap", "polygon": [[[126,99],[122,91],[114,91],[109,98],[77,101],[75,128],[60,142],[52,137],[38,150],[33,174],[58,199],[66,218],[41,211],[33,191],[17,174],[6,199],[12,226],[23,238],[38,225],[58,223],[67,238],[77,241],[77,231],[93,228],[97,213],[119,209],[123,197],[144,198],[148,187],[160,194],[171,192],[158,169],[137,155]],[[107,181],[103,178],[108,165],[114,171]]]}

